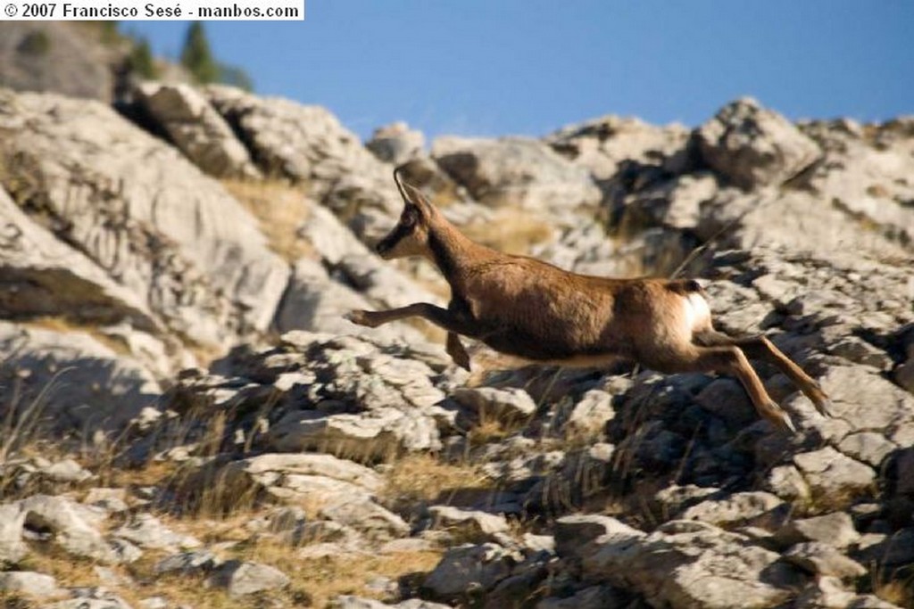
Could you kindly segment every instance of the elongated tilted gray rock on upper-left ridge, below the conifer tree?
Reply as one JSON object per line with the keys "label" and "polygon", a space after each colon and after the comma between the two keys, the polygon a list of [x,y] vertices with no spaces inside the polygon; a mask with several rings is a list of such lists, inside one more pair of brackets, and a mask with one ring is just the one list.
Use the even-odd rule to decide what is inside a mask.
{"label": "elongated tilted gray rock on upper-left ridge, below the conifer tree", "polygon": [[204,172],[217,177],[260,175],[250,161],[248,150],[197,89],[143,82],[136,92],[143,110]]}

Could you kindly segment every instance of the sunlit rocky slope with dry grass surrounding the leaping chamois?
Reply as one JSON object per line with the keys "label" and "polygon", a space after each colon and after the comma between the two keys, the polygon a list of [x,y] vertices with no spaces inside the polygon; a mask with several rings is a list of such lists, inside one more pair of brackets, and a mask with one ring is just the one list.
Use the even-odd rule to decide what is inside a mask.
{"label": "sunlit rocky slope with dry grass surrounding the leaping chamois", "polygon": [[[0,89],[10,606],[914,606],[914,121],[737,100],[426,152],[237,89],[135,100]],[[404,162],[497,247],[707,278],[832,416],[761,363],[795,436],[728,377],[468,375],[349,324],[445,298],[366,245]]]}

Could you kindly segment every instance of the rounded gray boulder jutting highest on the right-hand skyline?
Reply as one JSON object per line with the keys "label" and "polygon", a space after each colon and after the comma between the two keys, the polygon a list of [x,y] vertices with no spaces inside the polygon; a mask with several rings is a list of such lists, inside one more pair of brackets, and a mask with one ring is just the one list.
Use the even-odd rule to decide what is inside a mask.
{"label": "rounded gray boulder jutting highest on the right-hand skyline", "polygon": [[779,185],[808,167],[819,147],[756,100],[734,101],[696,131],[705,162],[742,188]]}

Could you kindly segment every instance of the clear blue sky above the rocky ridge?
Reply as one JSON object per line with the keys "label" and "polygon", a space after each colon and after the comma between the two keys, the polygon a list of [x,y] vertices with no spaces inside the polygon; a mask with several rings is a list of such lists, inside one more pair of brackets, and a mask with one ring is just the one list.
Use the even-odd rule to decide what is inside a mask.
{"label": "clear blue sky above the rocky ridge", "polygon": [[[306,0],[303,22],[207,22],[258,93],[363,138],[543,135],[603,114],[706,121],[758,98],[792,119],[914,113],[909,0]],[[125,22],[175,58],[186,22]]]}

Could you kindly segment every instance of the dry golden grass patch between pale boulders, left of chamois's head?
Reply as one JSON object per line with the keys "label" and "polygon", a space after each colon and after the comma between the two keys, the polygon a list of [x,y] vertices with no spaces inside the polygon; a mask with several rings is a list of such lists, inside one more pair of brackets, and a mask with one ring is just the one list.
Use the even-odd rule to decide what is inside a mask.
{"label": "dry golden grass patch between pale boulders, left of chamois's head", "polygon": [[314,256],[311,244],[298,236],[311,213],[303,187],[279,180],[223,180],[222,185],[257,218],[276,254],[288,262]]}

